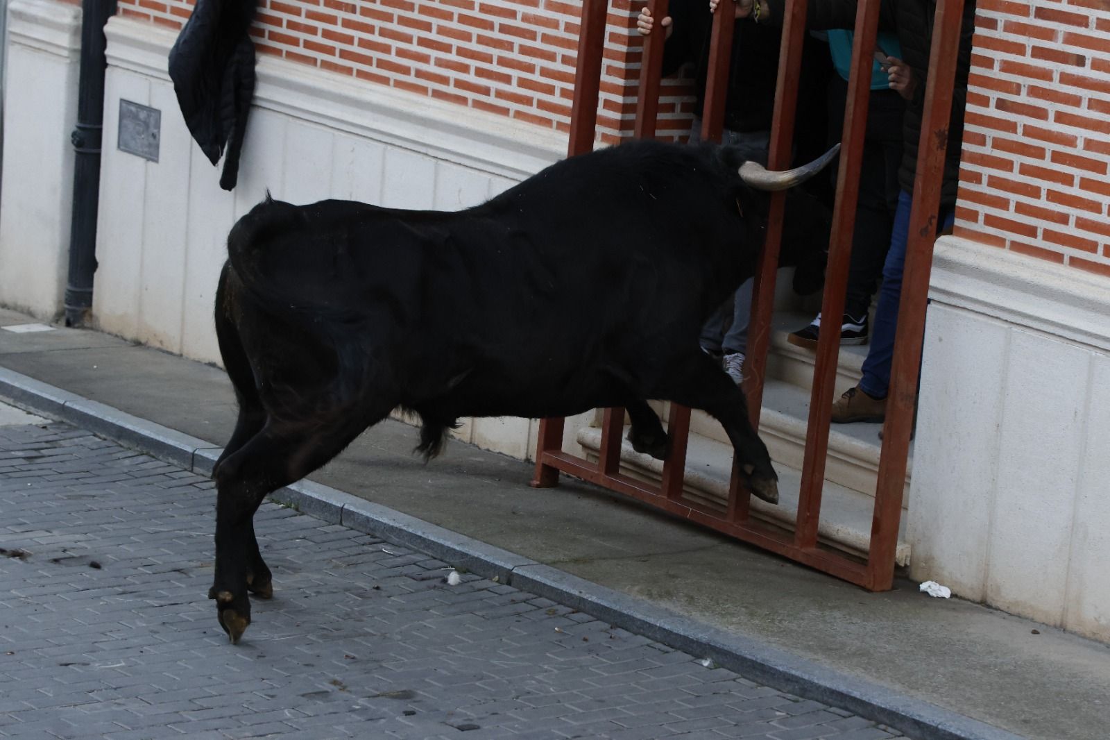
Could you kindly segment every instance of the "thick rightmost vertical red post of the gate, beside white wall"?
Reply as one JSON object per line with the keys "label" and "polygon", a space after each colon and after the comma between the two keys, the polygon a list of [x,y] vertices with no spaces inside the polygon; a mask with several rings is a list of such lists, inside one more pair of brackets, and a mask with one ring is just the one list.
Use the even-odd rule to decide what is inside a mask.
{"label": "thick rightmost vertical red post of the gate, beside white wall", "polygon": [[937,240],[937,212],[948,152],[952,89],[959,58],[963,0],[939,0],[932,21],[929,79],[925,88],[925,116],[914,180],[914,206],[909,217],[909,241],[902,268],[901,302],[895,339],[887,418],[882,427],[879,484],[871,520],[871,550],[867,560],[868,588],[889,589],[894,582],[895,549],[906,488],[906,459],[914,429],[918,369],[925,333],[925,313]]}

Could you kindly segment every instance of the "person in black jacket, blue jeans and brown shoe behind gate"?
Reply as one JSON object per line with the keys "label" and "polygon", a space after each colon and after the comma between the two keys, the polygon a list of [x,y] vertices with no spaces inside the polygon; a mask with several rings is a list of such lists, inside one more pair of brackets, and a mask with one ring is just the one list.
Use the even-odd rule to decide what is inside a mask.
{"label": "person in black jacket, blue jeans and brown shoe behind gate", "polygon": [[[720,0],[709,0],[709,7],[716,9],[719,2]],[[756,24],[770,26],[781,23],[786,4],[786,0],[733,0],[733,2],[737,19],[750,19]],[[909,240],[909,217],[914,202],[918,142],[925,116],[925,88],[936,6],[936,0],[884,0],[880,6],[879,29],[894,31],[898,36],[906,60],[906,69],[897,70],[891,84],[909,86],[909,99],[902,117],[902,161],[898,171],[900,192],[890,249],[882,267],[882,286],[879,289],[879,302],[875,311],[875,329],[867,359],[864,361],[862,378],[856,387],[845,391],[844,396],[833,404],[831,418],[836,423],[881,422],[886,419],[887,390],[890,386],[895,330],[898,326],[902,267]],[[807,24],[810,29],[855,28],[856,8],[856,0],[809,0]],[[948,124],[940,213],[937,219],[938,233],[949,229],[953,221],[963,139],[963,108],[967,103],[968,72],[971,66],[971,37],[975,33],[975,11],[976,0],[965,0],[952,91],[952,111]]]}

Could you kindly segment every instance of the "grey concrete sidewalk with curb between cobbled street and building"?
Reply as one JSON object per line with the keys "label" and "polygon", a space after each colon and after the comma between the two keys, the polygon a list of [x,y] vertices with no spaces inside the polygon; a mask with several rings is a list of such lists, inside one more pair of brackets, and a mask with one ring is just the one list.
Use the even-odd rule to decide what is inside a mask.
{"label": "grey concrete sidewalk with curb between cobbled street and building", "polygon": [[[0,310],[0,326],[30,322]],[[223,371],[92,331],[0,331],[0,397],[14,394],[13,373],[213,448],[234,423]],[[50,411],[30,398],[17,400]],[[508,551],[514,584],[547,583],[614,623],[618,612],[647,616],[660,630],[653,638],[685,636],[695,654],[700,636],[707,654],[763,661],[778,688],[869,704],[871,718],[910,737],[1005,737],[941,710],[1029,738],[1110,736],[1107,646],[930,599],[909,581],[867,593],[565,477],[534,490],[531,464],[458,442],[425,466],[415,443],[413,428],[387,421],[312,480]]]}

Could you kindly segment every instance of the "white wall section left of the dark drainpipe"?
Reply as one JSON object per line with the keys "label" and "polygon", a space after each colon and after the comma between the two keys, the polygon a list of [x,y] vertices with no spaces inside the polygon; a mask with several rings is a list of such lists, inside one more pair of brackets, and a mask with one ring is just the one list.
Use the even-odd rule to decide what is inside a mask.
{"label": "white wall section left of the dark drainpipe", "polygon": [[11,0],[8,12],[0,304],[53,320],[69,270],[81,9]]}

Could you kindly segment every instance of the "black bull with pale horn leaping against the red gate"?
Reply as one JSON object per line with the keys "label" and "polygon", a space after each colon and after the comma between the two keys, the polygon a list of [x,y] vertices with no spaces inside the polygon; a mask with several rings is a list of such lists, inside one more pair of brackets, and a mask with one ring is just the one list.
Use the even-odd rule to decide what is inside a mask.
{"label": "black bull with pale horn leaping against the red gate", "polygon": [[[667,436],[646,399],[668,399],[718,419],[746,484],[777,501],[744,394],[698,336],[754,272],[760,190],[827,161],[753,176],[728,147],[636,142],[558,162],[458,212],[255,206],[228,238],[215,304],[240,411],[213,472],[209,596],[231,640],[250,623],[248,591],[273,592],[253,528],[262,499],[396,407],[421,417],[426,457],[460,417],[614,406],[628,410],[634,447],[662,457]],[[819,253],[827,212],[794,201],[786,252]]]}

